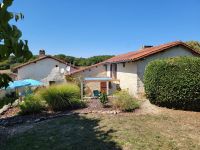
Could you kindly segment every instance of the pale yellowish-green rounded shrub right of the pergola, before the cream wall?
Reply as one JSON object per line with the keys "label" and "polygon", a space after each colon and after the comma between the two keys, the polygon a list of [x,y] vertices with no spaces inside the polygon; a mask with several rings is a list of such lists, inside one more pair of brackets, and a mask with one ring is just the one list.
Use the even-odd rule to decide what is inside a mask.
{"label": "pale yellowish-green rounded shrub right of the pergola, before the cream wall", "polygon": [[139,108],[139,103],[136,98],[129,95],[126,91],[119,91],[115,94],[115,99],[112,100],[112,104],[115,108],[122,111],[133,111]]}

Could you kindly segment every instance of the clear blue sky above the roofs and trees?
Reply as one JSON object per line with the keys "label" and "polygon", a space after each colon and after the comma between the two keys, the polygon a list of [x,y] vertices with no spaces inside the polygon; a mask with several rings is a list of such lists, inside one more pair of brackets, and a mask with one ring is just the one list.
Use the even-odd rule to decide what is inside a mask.
{"label": "clear blue sky above the roofs and trees", "polygon": [[89,57],[142,45],[200,41],[199,0],[15,0],[17,22],[34,54]]}

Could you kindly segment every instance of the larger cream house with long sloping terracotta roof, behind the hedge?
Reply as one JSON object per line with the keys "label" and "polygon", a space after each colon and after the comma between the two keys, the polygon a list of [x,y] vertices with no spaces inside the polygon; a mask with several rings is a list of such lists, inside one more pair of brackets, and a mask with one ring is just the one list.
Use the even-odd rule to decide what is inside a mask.
{"label": "larger cream house with long sloping terracotta roof, behind the hedge", "polygon": [[[144,94],[143,76],[147,64],[155,59],[176,56],[199,56],[200,53],[181,41],[171,42],[159,46],[144,46],[138,51],[112,57],[104,62],[89,66],[71,73],[72,77],[111,77],[117,83],[109,83],[109,93],[116,86],[127,90],[133,96]],[[88,83],[86,89],[102,90],[102,83]],[[104,84],[105,85],[105,84]],[[104,87],[105,88],[105,87]]]}

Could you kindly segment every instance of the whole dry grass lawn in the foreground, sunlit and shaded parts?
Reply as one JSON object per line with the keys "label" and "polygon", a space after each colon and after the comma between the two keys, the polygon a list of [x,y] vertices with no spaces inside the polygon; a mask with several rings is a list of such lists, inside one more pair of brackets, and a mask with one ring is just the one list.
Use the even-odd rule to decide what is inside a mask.
{"label": "whole dry grass lawn in the foreground, sunlit and shaded parts", "polygon": [[200,149],[200,114],[75,114],[35,124],[0,149]]}

